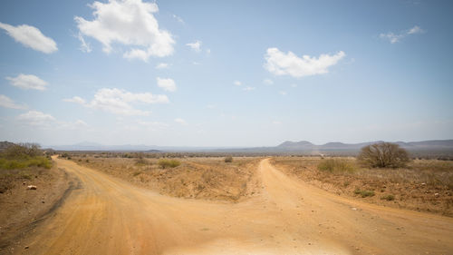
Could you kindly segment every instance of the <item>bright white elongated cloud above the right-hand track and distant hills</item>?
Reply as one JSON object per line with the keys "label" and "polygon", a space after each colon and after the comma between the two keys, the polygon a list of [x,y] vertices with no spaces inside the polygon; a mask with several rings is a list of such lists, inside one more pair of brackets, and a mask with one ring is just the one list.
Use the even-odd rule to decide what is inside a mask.
{"label": "bright white elongated cloud above the right-hand track and distant hills", "polygon": [[319,57],[303,55],[298,57],[292,52],[284,54],[277,48],[268,48],[265,54],[265,69],[275,75],[291,75],[299,78],[315,74],[327,74],[328,68],[337,64],[346,54],[321,54]]}

